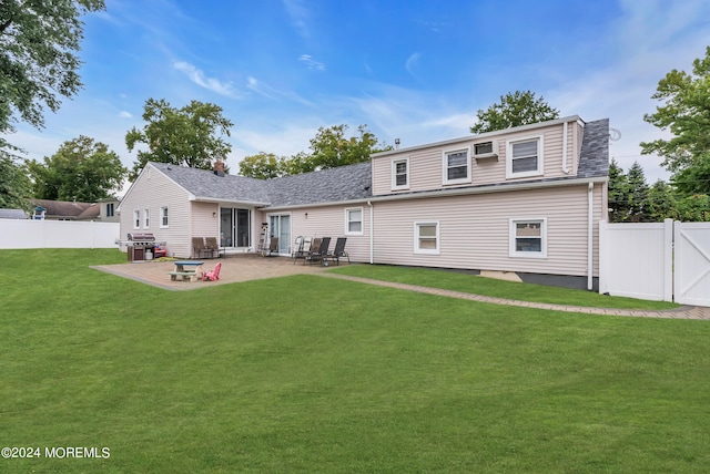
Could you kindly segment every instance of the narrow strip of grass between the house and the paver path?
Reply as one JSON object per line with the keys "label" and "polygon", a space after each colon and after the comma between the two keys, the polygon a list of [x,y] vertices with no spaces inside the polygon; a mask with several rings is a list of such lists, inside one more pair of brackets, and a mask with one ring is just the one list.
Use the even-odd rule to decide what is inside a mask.
{"label": "narrow strip of grass between the house and the paver path", "polygon": [[523,301],[571,305],[618,309],[673,309],[680,305],[668,301],[648,301],[599,295],[587,290],[574,290],[545,285],[520,284],[484,278],[457,271],[432,268],[394,267],[387,265],[354,265],[334,268],[334,272],[398,284],[420,285],[495,298]]}

